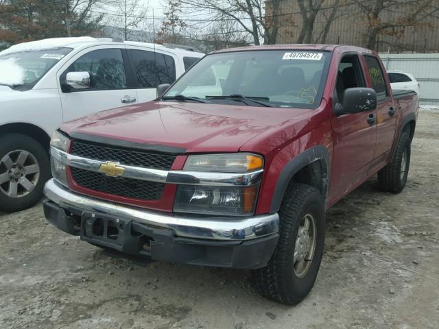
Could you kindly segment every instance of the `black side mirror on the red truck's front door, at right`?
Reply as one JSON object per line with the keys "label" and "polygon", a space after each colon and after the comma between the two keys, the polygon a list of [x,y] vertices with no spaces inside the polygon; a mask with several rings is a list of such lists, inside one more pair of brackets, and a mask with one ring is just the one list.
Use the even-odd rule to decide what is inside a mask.
{"label": "black side mirror on the red truck's front door, at right", "polygon": [[347,113],[358,113],[377,108],[377,93],[372,88],[348,88],[344,90],[343,102],[334,108],[337,117]]}

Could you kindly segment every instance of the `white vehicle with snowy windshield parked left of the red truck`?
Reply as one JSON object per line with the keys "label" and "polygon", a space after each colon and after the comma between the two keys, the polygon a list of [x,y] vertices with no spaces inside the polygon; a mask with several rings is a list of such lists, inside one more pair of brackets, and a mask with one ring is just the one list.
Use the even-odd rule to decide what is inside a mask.
{"label": "white vehicle with snowy windshield parked left of the red truck", "polygon": [[203,53],[109,38],[53,38],[0,52],[0,211],[32,206],[64,121],[156,98]]}

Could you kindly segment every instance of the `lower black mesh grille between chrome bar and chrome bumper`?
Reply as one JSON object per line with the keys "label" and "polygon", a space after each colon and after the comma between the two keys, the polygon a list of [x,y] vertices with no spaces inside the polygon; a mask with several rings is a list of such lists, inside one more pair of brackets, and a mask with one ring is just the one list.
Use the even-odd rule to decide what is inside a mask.
{"label": "lower black mesh grille between chrome bar and chrome bumper", "polygon": [[110,177],[104,173],[96,173],[71,167],[73,180],[92,190],[130,197],[133,199],[158,200],[161,198],[165,184],[133,180],[132,178]]}

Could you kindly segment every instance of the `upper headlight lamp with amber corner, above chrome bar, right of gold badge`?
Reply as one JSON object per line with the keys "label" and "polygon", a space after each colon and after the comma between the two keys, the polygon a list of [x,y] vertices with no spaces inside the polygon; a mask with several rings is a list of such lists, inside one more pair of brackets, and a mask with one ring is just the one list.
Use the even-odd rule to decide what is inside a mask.
{"label": "upper headlight lamp with amber corner, above chrome bar, right of gold badge", "polygon": [[256,154],[208,154],[189,156],[183,170],[246,173],[263,168],[263,158]]}

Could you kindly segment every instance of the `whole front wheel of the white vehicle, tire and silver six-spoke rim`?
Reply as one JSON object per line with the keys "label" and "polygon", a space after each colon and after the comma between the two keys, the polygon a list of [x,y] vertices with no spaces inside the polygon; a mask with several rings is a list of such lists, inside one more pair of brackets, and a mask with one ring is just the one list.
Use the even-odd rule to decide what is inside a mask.
{"label": "whole front wheel of the white vehicle, tire and silver six-spoke rim", "polygon": [[0,211],[36,204],[49,178],[49,155],[40,143],[22,134],[0,135]]}

